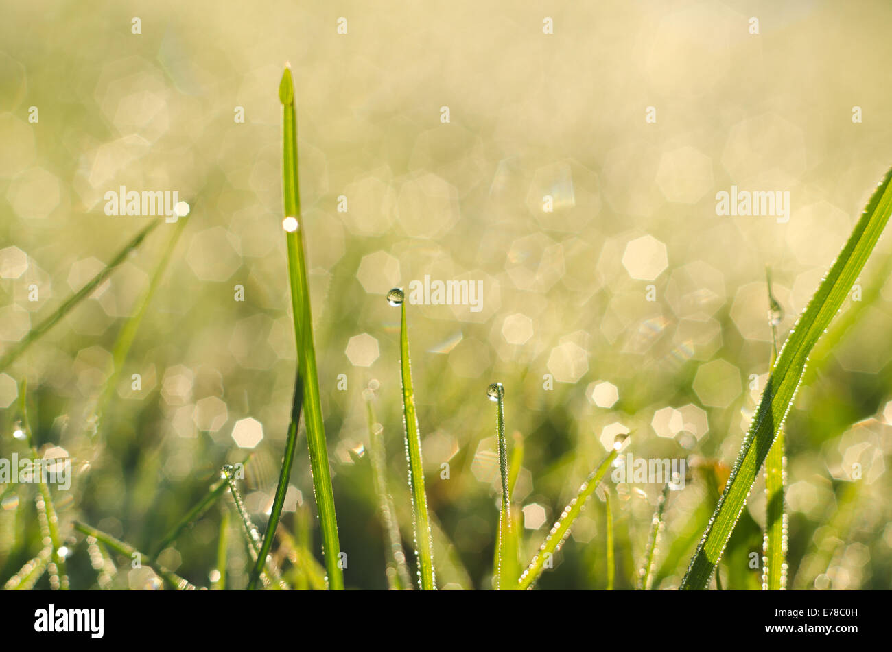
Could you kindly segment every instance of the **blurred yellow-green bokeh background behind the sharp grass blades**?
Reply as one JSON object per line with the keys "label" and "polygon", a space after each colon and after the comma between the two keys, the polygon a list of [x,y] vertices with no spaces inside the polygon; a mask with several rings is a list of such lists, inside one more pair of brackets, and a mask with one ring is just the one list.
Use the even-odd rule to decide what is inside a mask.
{"label": "blurred yellow-green bokeh background behind the sharp grass blades", "polygon": [[[0,374],[0,457],[26,452],[12,432],[27,378],[40,451],[72,458],[71,488],[54,495],[75,588],[99,584],[73,519],[152,550],[220,466],[249,452],[239,485],[265,526],[296,364],[281,227],[285,61],[348,588],[387,585],[363,401],[373,380],[412,542],[388,289],[425,275],[483,283],[479,312],[408,306],[438,583],[491,588],[499,490],[486,387],[500,380],[508,435],[524,441],[524,558],[631,431],[625,452],[689,461],[657,553],[655,585],[672,588],[764,387],[765,265],[785,338],[892,164],[884,2],[35,0],[3,13],[0,354],[161,219],[107,216],[106,192],[176,191],[192,207],[98,428],[112,348],[175,224],[161,219]],[[716,193],[732,185],[789,192],[789,222],[717,215]],[[888,260],[887,237],[787,421],[790,586],[892,588]],[[283,526],[321,558],[302,428],[291,481]],[[616,586],[630,588],[661,486],[607,486]],[[0,485],[4,582],[41,548],[36,493]],[[209,585],[227,509],[215,505],[163,563]],[[593,497],[542,588],[606,585],[604,514]],[[760,586],[749,558],[763,525],[760,480],[723,560],[725,588]],[[228,583],[239,588],[247,556],[235,518],[229,527]],[[115,561],[103,586],[161,585]]]}

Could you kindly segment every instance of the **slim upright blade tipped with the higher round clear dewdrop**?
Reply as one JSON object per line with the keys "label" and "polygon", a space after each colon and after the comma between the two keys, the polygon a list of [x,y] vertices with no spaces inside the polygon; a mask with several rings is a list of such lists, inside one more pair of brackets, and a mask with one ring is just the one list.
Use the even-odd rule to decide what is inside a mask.
{"label": "slim upright blade tipped with the higher round clear dewdrop", "polygon": [[418,564],[418,585],[422,591],[437,588],[434,576],[434,538],[427,512],[425,469],[421,463],[421,435],[412,389],[412,369],[409,361],[409,331],[406,328],[406,302],[398,288],[387,293],[391,306],[400,306],[400,371],[402,379],[402,417],[406,430],[406,460],[409,463],[409,487],[412,491],[412,521],[415,526],[415,556]]}

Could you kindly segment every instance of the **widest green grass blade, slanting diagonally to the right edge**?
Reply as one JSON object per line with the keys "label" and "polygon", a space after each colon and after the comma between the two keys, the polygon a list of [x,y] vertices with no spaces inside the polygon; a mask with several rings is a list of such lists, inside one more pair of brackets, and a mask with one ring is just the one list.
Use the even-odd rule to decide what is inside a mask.
{"label": "widest green grass blade, slanting diagonally to the right edge", "polygon": [[756,474],[771,450],[796,396],[809,352],[842,306],[888,222],[892,212],[890,178],[892,170],[873,193],[846,245],[780,349],[731,477],[690,560],[681,589],[705,589],[715,566],[722,558],[731,531],[737,524],[747,495],[756,480]]}

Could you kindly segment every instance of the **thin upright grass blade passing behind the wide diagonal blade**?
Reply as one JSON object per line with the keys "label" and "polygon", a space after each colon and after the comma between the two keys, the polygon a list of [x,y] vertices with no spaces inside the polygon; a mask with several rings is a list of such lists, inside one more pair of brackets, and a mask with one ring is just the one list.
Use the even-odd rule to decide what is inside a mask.
{"label": "thin upright grass blade passing behind the wide diagonal blade", "polygon": [[[783,309],[772,294],[771,268],[766,270],[768,283],[768,322],[772,328],[772,360],[778,352],[778,324],[783,320]],[[784,510],[786,483],[784,433],[778,428],[772,449],[765,458],[765,533],[763,539],[762,588],[782,591],[787,588],[787,512]]]}

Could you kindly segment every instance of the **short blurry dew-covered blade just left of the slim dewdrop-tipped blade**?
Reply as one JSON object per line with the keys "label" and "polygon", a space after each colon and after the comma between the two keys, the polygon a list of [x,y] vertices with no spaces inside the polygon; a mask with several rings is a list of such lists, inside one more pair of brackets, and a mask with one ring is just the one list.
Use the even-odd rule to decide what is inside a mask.
{"label": "short blurry dew-covered blade just left of the slim dewdrop-tipped blade", "polygon": [[384,427],[378,423],[375,415],[375,392],[372,389],[363,391],[368,416],[368,453],[371,459],[372,478],[378,496],[378,511],[381,515],[381,526],[387,536],[386,575],[387,585],[393,591],[411,591],[412,578],[409,565],[406,563],[406,552],[402,549],[400,526],[396,521],[393,509],[393,497],[387,490],[387,453],[384,447]]}

